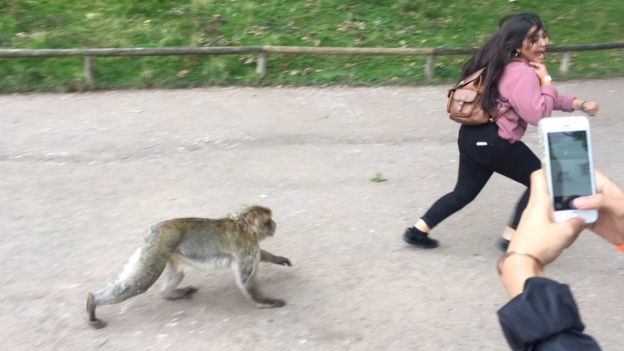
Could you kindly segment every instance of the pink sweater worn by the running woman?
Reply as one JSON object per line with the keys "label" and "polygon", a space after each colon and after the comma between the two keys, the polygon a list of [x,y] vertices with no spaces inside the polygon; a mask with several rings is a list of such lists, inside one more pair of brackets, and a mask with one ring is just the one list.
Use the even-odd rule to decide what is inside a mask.
{"label": "pink sweater worn by the running woman", "polygon": [[510,106],[496,121],[498,135],[515,143],[527,129],[553,110],[572,112],[574,96],[559,95],[552,85],[540,85],[535,71],[520,60],[510,62],[498,83],[498,106]]}

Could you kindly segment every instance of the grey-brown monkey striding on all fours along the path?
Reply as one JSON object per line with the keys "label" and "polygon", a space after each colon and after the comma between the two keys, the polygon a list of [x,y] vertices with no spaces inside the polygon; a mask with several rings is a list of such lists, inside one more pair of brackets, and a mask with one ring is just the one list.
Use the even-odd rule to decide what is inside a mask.
{"label": "grey-brown monkey striding on all fours along the path", "polygon": [[256,280],[261,261],[292,266],[288,258],[260,248],[259,241],[273,236],[275,228],[271,210],[258,205],[225,218],[174,218],[150,226],[143,246],[130,257],[117,280],[88,293],[89,324],[96,329],[106,326],[95,316],[98,305],[120,303],[144,293],[163,272],[163,298],[190,298],[197,288],[177,287],[189,268],[230,266],[237,286],[256,306],[284,306],[285,301],[264,296]]}

